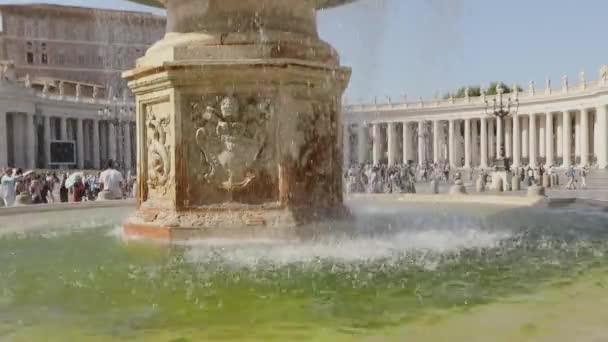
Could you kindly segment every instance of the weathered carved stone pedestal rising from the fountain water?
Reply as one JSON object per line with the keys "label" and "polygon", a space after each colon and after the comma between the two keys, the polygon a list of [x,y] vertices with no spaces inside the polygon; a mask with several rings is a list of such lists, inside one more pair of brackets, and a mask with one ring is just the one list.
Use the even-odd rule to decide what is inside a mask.
{"label": "weathered carved stone pedestal rising from the fountain water", "polygon": [[139,186],[127,234],[283,238],[344,215],[350,69],[318,36],[319,4],[163,4],[167,35],[124,74],[137,102]]}

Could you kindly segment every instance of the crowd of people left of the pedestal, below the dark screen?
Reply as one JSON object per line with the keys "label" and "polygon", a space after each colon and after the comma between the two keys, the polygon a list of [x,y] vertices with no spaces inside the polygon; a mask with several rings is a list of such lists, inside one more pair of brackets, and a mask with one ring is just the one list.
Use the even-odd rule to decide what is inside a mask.
{"label": "crowd of people left of the pedestal, below the dark screen", "polygon": [[134,197],[137,180],[108,161],[101,172],[58,173],[0,169],[0,207],[16,204],[86,202]]}

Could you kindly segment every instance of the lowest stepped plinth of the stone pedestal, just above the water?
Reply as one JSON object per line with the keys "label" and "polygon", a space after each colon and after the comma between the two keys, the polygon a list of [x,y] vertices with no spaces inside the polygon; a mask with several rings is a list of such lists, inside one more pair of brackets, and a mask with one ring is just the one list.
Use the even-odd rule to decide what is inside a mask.
{"label": "lowest stepped plinth of the stone pedestal, just above the water", "polygon": [[327,222],[349,222],[345,207],[310,208],[208,208],[184,213],[139,210],[124,225],[129,237],[166,242],[196,239],[311,239],[331,230]]}

